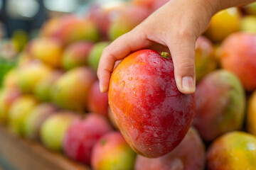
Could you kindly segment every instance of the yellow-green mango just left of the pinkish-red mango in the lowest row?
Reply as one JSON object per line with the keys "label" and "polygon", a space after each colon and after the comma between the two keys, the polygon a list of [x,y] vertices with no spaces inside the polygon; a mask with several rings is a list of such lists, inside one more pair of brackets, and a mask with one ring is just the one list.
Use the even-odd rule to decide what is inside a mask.
{"label": "yellow-green mango just left of the pinkish-red mango in the lowest row", "polygon": [[43,145],[54,151],[62,150],[62,143],[68,127],[78,118],[71,111],[53,113],[41,126],[40,137]]}

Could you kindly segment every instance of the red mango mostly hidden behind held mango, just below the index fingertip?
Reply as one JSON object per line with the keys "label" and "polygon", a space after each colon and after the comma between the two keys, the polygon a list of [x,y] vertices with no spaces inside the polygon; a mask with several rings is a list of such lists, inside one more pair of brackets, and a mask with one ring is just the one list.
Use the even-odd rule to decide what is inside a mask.
{"label": "red mango mostly hidden behind held mango, just below the index fingertip", "polygon": [[100,92],[100,82],[95,81],[89,92],[88,108],[92,113],[107,116],[108,94]]}

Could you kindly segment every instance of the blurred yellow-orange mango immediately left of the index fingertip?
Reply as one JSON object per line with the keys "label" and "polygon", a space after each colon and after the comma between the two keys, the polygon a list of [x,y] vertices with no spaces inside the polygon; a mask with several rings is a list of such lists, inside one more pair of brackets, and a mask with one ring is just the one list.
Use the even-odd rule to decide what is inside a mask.
{"label": "blurred yellow-orange mango immediately left of the index fingertip", "polygon": [[71,69],[53,84],[53,102],[65,109],[87,110],[90,87],[96,79],[95,72],[89,67]]}

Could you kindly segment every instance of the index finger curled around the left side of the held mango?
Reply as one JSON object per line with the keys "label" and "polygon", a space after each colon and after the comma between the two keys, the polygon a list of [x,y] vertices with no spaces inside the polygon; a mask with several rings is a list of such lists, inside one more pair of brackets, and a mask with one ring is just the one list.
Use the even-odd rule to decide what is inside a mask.
{"label": "index finger curled around the left side of the held mango", "polygon": [[151,43],[152,42],[146,38],[144,31],[132,30],[120,36],[106,47],[102,52],[97,70],[97,77],[100,81],[100,91],[106,92],[108,90],[110,75],[117,60],[122,60],[129,55],[130,52],[141,50],[151,45]]}

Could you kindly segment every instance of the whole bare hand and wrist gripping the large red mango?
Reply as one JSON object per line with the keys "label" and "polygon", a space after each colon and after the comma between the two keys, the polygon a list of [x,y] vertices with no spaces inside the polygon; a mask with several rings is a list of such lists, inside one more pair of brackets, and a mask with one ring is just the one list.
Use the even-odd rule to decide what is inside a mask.
{"label": "whole bare hand and wrist gripping the large red mango", "polygon": [[97,70],[100,90],[108,90],[110,75],[118,60],[124,59],[130,52],[153,45],[163,45],[171,52],[178,90],[183,94],[193,94],[196,90],[196,39],[206,30],[210,18],[215,13],[253,1],[255,0],[169,1],[129,33],[120,36],[105,48]]}

